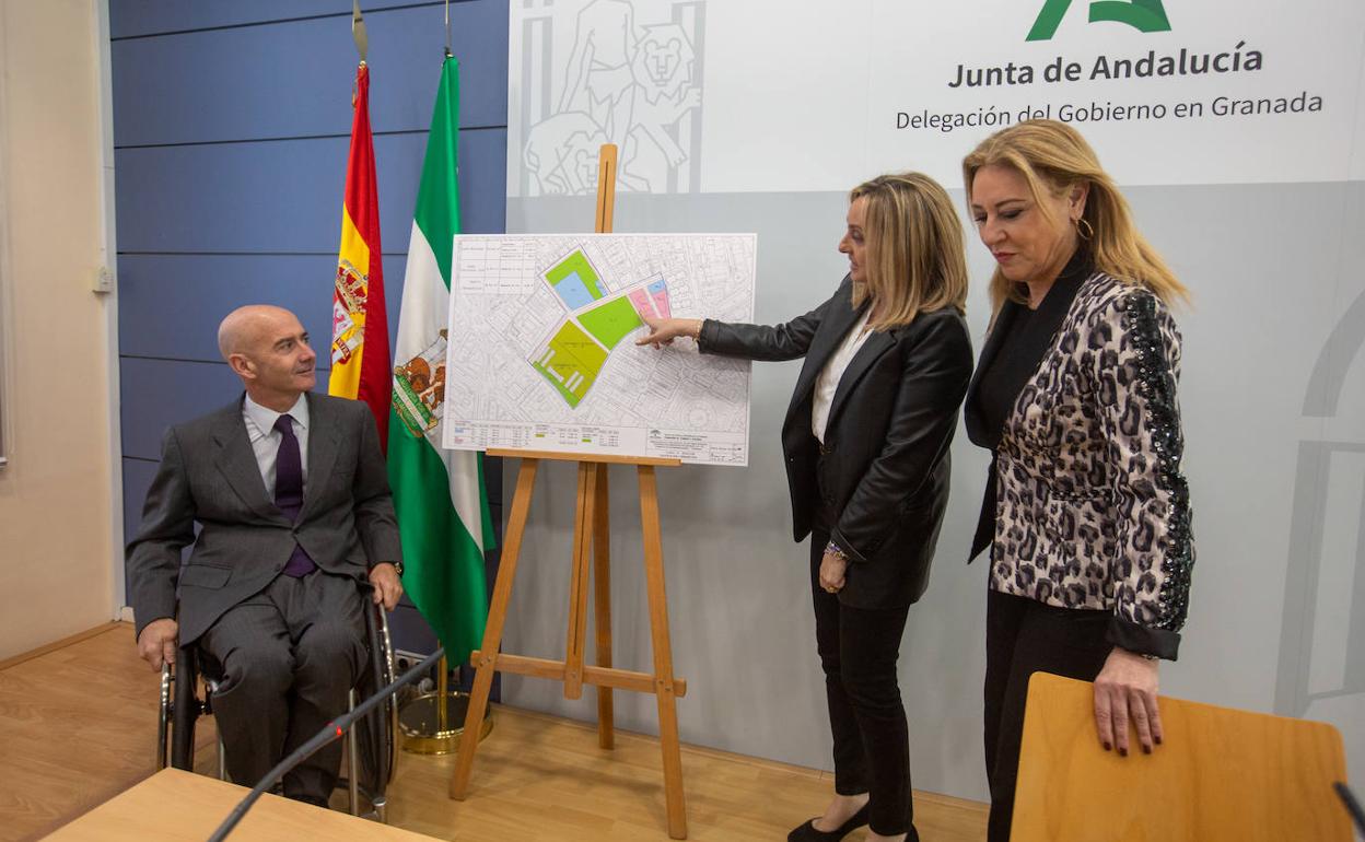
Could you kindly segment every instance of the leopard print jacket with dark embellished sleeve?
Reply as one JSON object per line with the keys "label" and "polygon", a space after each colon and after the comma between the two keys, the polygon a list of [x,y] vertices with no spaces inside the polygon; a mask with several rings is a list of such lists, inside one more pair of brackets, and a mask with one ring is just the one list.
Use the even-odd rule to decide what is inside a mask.
{"label": "leopard print jacket with dark embellished sleeve", "polygon": [[1194,564],[1179,367],[1159,297],[1088,278],[1005,424],[991,550],[992,590],[1112,611],[1112,643],[1167,658]]}

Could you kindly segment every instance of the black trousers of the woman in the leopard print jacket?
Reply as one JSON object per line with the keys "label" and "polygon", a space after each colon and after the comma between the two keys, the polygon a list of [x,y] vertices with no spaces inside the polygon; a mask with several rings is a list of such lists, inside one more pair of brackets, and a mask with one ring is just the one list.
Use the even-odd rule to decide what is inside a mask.
{"label": "black trousers of the woman in the leopard print jacket", "polygon": [[986,776],[991,785],[988,842],[1009,842],[1018,779],[1024,703],[1033,673],[1093,681],[1112,644],[1110,611],[1059,609],[1035,599],[987,592]]}

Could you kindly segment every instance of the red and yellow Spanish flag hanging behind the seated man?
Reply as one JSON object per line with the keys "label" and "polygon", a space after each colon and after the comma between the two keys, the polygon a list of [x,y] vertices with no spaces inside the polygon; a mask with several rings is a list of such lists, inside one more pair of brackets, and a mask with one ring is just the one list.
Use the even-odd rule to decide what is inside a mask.
{"label": "red and yellow Spanish flag hanging behind the seated man", "polygon": [[328,394],[370,404],[379,441],[389,427],[389,318],[384,307],[379,195],[370,134],[370,68],[355,71],[355,119],[341,203],[341,250],[332,296],[332,378]]}

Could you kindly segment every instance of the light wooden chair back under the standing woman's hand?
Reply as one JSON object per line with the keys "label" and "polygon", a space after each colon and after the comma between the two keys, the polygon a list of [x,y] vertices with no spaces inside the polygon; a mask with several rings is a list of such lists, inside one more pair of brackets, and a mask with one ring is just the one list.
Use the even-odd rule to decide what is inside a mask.
{"label": "light wooden chair back under the standing woman's hand", "polygon": [[1029,680],[1011,842],[1351,841],[1335,727],[1162,697],[1163,745],[1119,757],[1092,704],[1087,681]]}

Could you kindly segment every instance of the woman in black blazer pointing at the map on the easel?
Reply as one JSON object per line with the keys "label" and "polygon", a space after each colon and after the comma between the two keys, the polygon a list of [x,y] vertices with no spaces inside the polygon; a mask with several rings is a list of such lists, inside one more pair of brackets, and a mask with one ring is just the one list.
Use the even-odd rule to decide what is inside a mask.
{"label": "woman in black blazer pointing at the map on the easel", "polygon": [[943,188],[887,175],[849,195],[849,274],[785,325],[650,322],[703,353],[805,358],[782,426],[793,536],[811,535],[816,647],[834,736],[835,797],[793,841],[917,839],[895,665],[947,506],[949,444],[972,375],[961,222]]}

